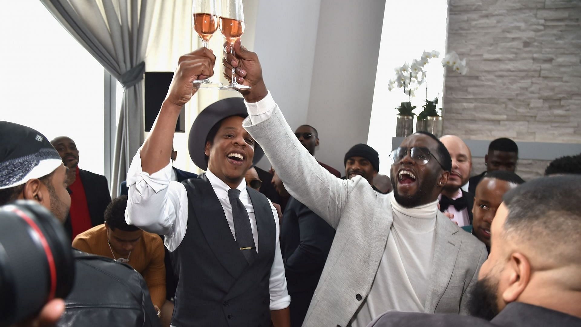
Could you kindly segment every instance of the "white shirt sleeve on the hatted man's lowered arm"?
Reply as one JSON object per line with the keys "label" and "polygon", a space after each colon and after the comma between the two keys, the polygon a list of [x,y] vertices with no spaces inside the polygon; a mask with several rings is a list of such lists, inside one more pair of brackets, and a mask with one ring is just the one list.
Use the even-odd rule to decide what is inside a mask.
{"label": "white shirt sleeve on the hatted man's lowered arm", "polygon": [[[268,200],[270,202],[270,200]],[[274,251],[274,260],[270,268],[270,279],[268,280],[268,287],[270,289],[270,310],[282,310],[290,305],[290,296],[286,290],[285,265],[282,261],[281,244],[279,243],[280,228],[278,224],[277,209],[274,208],[270,202],[272,209],[272,216],[277,225],[277,239]]]}

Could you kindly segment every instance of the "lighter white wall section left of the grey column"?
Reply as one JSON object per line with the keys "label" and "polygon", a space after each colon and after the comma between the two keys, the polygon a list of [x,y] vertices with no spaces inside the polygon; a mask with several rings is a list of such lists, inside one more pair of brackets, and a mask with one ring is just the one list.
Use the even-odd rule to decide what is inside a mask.
{"label": "lighter white wall section left of the grey column", "polygon": [[[321,1],[254,0],[245,1],[245,9],[249,2],[258,4],[253,51],[259,55],[268,89],[295,129],[307,121]],[[252,29],[246,18],[245,35]],[[270,163],[265,157],[259,166],[268,169]]]}

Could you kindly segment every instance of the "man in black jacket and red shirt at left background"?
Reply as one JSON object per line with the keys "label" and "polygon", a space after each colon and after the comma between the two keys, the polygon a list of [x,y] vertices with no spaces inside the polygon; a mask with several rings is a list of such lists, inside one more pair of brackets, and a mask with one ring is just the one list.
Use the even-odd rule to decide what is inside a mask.
{"label": "man in black jacket and red shirt at left background", "polygon": [[73,240],[85,230],[105,222],[103,213],[111,202],[109,185],[105,176],[78,168],[77,144],[70,137],[59,136],[51,144],[69,168],[67,189],[71,196],[71,208],[64,228]]}

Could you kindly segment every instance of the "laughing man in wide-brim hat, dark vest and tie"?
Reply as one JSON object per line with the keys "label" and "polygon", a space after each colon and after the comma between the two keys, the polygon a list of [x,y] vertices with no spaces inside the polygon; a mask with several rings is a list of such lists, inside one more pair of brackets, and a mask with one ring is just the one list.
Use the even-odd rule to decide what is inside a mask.
{"label": "laughing man in wide-brim hat, dark vest and tie", "polygon": [[174,126],[197,88],[213,74],[206,48],[181,56],[155,125],[127,176],[125,219],[163,234],[179,273],[171,325],[288,326],[290,297],[271,202],[247,188],[246,170],[262,157],[242,127],[242,98],[204,109],[189,134],[189,154],[204,175],[171,180]]}

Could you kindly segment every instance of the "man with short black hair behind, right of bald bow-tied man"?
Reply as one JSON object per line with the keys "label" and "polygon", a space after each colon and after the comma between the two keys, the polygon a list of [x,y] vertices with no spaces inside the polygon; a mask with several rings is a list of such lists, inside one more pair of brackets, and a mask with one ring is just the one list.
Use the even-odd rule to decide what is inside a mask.
{"label": "man with short black hair behind, right of bald bow-tied man", "polygon": [[478,183],[487,172],[492,172],[493,170],[514,172],[517,170],[517,161],[518,145],[513,140],[501,137],[490,142],[488,154],[484,156],[486,172],[470,177],[468,180],[468,192],[475,193],[476,186],[478,186]]}

